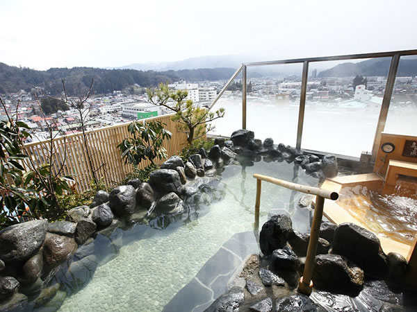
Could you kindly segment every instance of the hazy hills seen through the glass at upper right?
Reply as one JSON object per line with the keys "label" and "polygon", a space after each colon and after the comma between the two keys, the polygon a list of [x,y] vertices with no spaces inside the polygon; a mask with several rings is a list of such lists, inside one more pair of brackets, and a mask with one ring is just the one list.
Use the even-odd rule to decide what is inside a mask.
{"label": "hazy hills seen through the glass at upper right", "polygon": [[[373,58],[362,62],[345,62],[320,71],[318,77],[387,76],[391,58]],[[417,76],[417,58],[400,59],[397,76]]]}

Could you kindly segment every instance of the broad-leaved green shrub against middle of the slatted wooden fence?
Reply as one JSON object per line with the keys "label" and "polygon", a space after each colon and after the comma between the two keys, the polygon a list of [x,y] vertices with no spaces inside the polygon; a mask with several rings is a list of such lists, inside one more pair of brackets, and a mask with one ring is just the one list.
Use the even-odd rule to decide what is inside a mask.
{"label": "broad-leaved green shrub against middle of the slatted wooden fence", "polygon": [[149,159],[155,166],[154,159],[165,159],[167,150],[162,146],[164,139],[171,139],[172,133],[165,130],[161,121],[133,121],[128,126],[131,137],[120,143],[117,148],[122,153],[124,163],[138,166],[144,159]]}

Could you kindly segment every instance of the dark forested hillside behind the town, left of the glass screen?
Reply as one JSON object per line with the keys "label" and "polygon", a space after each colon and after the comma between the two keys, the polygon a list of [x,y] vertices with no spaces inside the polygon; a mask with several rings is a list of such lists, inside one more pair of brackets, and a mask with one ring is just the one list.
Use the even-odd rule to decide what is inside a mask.
{"label": "dark forested hillside behind the town, left of the glass screen", "polygon": [[94,79],[95,94],[106,94],[114,90],[138,84],[141,87],[156,87],[159,83],[177,80],[202,81],[228,79],[235,69],[184,69],[181,71],[138,71],[135,69],[99,69],[92,67],[51,68],[47,71],[12,67],[0,63],[0,94],[31,91],[42,87],[51,95],[62,91],[61,80],[65,80],[67,93],[72,96],[85,94]]}

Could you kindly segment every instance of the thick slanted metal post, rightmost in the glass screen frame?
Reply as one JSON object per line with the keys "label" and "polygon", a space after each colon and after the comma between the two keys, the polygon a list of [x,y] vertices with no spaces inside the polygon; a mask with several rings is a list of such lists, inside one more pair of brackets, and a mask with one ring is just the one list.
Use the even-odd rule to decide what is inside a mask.
{"label": "thick slanted metal post, rightmost in the glass screen frame", "polygon": [[371,161],[375,162],[377,157],[379,142],[381,141],[381,133],[384,131],[386,117],[389,112],[389,104],[391,103],[391,96],[393,96],[393,90],[395,85],[395,77],[397,76],[398,65],[400,64],[400,55],[395,54],[391,58],[391,64],[389,67],[388,78],[386,79],[386,87],[384,92],[384,98],[382,99],[381,110],[379,111],[379,118],[377,123],[377,130],[375,131],[375,139],[372,148]]}

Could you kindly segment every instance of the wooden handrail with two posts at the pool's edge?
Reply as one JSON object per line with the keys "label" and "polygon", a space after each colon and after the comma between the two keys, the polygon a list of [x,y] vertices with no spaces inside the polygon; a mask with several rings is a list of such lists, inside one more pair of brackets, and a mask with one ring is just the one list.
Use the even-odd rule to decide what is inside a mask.
{"label": "wooden handrail with two posts at the pool's edge", "polygon": [[307,193],[311,195],[316,195],[316,207],[314,207],[313,222],[311,223],[311,232],[309,239],[309,247],[307,248],[306,262],[304,265],[304,272],[300,278],[300,283],[298,284],[298,290],[300,293],[305,295],[310,295],[313,290],[313,281],[311,277],[313,276],[313,266],[314,260],[316,258],[316,251],[318,245],[318,234],[320,232],[320,224],[323,216],[323,207],[325,205],[325,198],[330,200],[337,200],[338,193],[333,191],[328,191],[326,189],[320,189],[318,187],[309,187],[302,184],[296,184],[288,182],[285,180],[279,180],[275,177],[268,177],[268,175],[259,175],[254,174],[256,178],[256,202],[255,202],[255,229],[259,229],[259,208],[261,206],[261,184],[262,181],[270,182],[272,184],[279,185],[280,187],[285,187],[286,189],[292,189],[294,191],[300,191],[302,193]]}

